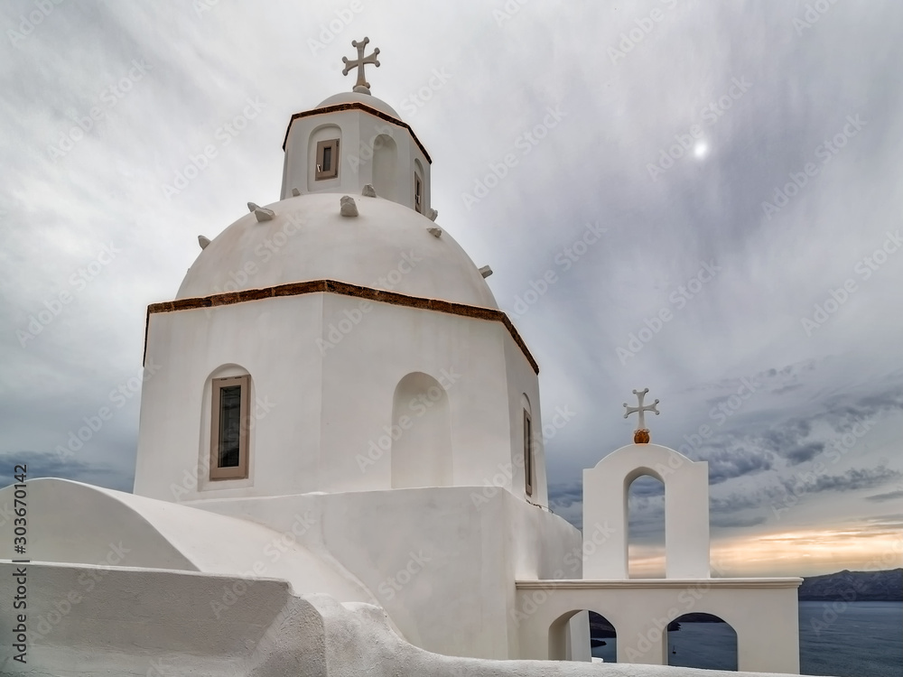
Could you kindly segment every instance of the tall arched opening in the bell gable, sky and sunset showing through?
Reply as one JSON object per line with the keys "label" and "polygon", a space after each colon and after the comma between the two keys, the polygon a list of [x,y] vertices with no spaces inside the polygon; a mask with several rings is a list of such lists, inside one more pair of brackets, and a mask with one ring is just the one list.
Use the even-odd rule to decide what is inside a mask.
{"label": "tall arched opening in the bell gable, sky and sunset showing through", "polygon": [[628,481],[628,578],[664,579],[665,483],[647,473]]}

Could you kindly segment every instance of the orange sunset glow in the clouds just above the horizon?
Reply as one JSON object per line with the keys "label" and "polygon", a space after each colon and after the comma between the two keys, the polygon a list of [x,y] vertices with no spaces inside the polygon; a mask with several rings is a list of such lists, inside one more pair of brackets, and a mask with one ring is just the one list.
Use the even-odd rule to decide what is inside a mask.
{"label": "orange sunset glow in the clouds just above the horizon", "polygon": [[[903,567],[903,533],[888,528],[800,529],[712,540],[712,576],[817,576]],[[662,546],[630,545],[630,574],[665,573]]]}

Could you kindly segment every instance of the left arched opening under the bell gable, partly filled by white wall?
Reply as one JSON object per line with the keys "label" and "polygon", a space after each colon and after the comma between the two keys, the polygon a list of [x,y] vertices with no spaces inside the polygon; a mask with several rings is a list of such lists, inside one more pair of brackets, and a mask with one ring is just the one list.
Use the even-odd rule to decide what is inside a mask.
{"label": "left arched opening under the bell gable, partly filled by white wall", "polygon": [[618,633],[608,618],[589,609],[568,611],[549,626],[549,660],[617,663]]}

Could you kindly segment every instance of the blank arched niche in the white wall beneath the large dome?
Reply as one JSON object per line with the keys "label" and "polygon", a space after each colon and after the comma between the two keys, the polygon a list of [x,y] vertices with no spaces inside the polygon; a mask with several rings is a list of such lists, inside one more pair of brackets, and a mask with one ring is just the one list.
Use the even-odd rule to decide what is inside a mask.
{"label": "blank arched niche in the white wall beneath the large dome", "polygon": [[392,488],[452,486],[448,394],[427,374],[408,374],[392,402]]}

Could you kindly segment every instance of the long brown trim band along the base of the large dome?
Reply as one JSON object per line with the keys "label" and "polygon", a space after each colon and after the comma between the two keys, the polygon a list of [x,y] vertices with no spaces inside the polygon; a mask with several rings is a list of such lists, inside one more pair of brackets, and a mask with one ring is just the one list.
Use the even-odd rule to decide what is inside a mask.
{"label": "long brown trim band along the base of the large dome", "polygon": [[357,284],[342,283],[336,280],[311,280],[303,283],[279,284],[275,287],[265,287],[264,289],[246,289],[241,292],[224,292],[213,294],[212,296],[203,296],[193,299],[177,299],[176,301],[163,301],[162,303],[151,303],[147,306],[147,320],[144,324],[144,354],[147,354],[147,329],[150,326],[152,312],[173,312],[173,311],[191,311],[198,308],[212,308],[214,306],[227,306],[233,303],[243,303],[245,301],[258,301],[260,299],[270,299],[276,296],[298,296],[300,294],[309,293],[333,293],[342,296],[356,296],[360,299],[368,301],[378,301],[381,303],[391,303],[397,306],[406,306],[408,308],[420,308],[424,311],[445,312],[450,315],[461,315],[467,318],[476,318],[477,320],[490,320],[501,322],[505,325],[511,338],[524,353],[526,361],[530,363],[536,374],[539,374],[539,365],[534,357],[530,354],[529,348],[526,347],[524,339],[520,338],[514,324],[508,319],[508,316],[493,308],[480,308],[479,306],[471,306],[466,303],[454,303],[452,301],[442,301],[441,299],[426,299],[421,296],[408,296],[396,292],[383,292],[378,289],[370,289],[369,287],[360,287]]}

